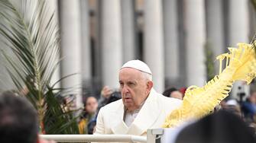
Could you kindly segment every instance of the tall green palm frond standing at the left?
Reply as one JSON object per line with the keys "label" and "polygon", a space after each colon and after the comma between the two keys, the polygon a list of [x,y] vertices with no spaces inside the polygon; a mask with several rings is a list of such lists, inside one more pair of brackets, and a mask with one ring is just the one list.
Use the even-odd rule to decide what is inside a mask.
{"label": "tall green palm frond standing at the left", "polygon": [[47,11],[44,0],[0,1],[0,34],[12,55],[2,49],[12,81],[38,111],[42,132],[76,134],[73,113],[64,110],[50,79],[59,61],[59,30],[54,14]]}

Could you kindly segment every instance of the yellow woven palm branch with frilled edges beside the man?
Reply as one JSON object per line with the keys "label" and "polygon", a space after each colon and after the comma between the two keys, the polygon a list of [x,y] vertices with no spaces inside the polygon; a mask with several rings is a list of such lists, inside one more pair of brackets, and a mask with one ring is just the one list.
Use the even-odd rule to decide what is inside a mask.
{"label": "yellow woven palm branch with frilled edges beside the man", "polygon": [[[220,61],[219,75],[204,87],[190,86],[186,90],[182,105],[173,110],[164,122],[164,128],[171,128],[189,119],[199,119],[209,114],[231,91],[237,80],[251,83],[256,75],[254,46],[238,43],[238,48],[228,48],[229,52],[217,57]],[[226,60],[222,71],[222,61]]]}

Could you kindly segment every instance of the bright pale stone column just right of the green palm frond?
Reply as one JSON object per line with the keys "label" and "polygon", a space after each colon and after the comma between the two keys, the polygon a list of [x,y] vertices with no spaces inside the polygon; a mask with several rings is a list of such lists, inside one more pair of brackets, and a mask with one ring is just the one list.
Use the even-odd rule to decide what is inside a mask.
{"label": "bright pale stone column just right of the green palm frond", "polygon": [[76,107],[82,104],[82,76],[81,76],[81,19],[79,0],[61,0],[60,3],[60,30],[61,30],[61,76],[70,74],[62,81],[63,87],[75,87]]}

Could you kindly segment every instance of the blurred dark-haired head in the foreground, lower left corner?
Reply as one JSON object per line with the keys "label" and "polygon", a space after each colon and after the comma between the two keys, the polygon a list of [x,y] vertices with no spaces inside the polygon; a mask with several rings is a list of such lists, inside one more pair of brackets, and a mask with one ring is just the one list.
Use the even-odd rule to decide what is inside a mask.
{"label": "blurred dark-haired head in the foreground, lower left corner", "polygon": [[37,111],[23,97],[11,92],[0,94],[1,143],[49,143],[38,137]]}

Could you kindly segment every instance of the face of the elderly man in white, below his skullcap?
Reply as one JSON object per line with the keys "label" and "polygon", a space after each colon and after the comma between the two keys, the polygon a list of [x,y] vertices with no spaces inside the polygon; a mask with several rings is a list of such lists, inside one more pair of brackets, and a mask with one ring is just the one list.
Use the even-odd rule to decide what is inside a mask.
{"label": "face of the elderly man in white, below his skullcap", "polygon": [[119,84],[122,101],[130,111],[141,106],[153,86],[152,81],[148,81],[141,71],[134,68],[122,68],[119,71]]}

